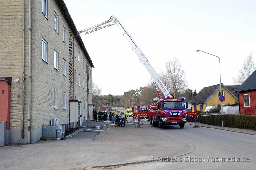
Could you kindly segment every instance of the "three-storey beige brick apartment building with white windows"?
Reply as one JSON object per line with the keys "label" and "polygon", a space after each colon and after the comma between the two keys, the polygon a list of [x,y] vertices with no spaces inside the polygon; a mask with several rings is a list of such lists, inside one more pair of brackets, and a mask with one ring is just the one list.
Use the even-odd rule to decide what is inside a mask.
{"label": "three-storey beige brick apartment building with white windows", "polygon": [[11,77],[8,143],[35,143],[52,118],[68,123],[70,100],[81,101],[86,120],[94,66],[64,1],[2,0],[0,9],[0,90]]}

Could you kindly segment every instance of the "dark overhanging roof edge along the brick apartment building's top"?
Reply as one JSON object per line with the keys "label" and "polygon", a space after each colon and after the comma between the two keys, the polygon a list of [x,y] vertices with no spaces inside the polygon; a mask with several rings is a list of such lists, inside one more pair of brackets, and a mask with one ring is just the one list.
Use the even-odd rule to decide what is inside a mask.
{"label": "dark overhanging roof edge along the brick apartment building's top", "polygon": [[[76,36],[78,34],[78,31],[76,29],[76,26],[75,26],[75,23],[74,23],[73,19],[71,18],[70,13],[68,12],[68,8],[67,8],[66,4],[64,3],[64,0],[56,0],[56,2],[58,3],[58,6],[60,7],[61,12],[63,12],[65,18],[67,19],[67,22],[68,22],[71,30],[73,31],[74,36]],[[87,50],[84,46],[84,43],[83,43],[83,41],[82,41],[82,39],[79,35],[76,36],[76,40],[79,43],[81,49],[83,50],[86,58],[88,59],[89,64],[92,66],[92,68],[94,68],[92,60],[91,60],[91,58],[90,58],[90,56],[89,56],[89,54],[88,54],[88,52],[87,52]]]}

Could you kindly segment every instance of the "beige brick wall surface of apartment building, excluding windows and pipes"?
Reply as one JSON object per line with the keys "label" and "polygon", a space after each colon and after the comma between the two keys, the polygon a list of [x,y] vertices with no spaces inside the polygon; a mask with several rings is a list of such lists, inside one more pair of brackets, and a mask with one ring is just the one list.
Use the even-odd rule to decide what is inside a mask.
{"label": "beige brick wall surface of apartment building, excluding windows and pipes", "polygon": [[[68,80],[68,30],[70,27],[54,0],[48,0],[48,16],[41,12],[41,1],[32,0],[32,88],[31,88],[31,128],[40,128],[50,123],[51,118],[58,118],[58,123],[66,123],[69,116],[69,80]],[[0,3],[0,77],[12,77],[10,128],[21,129],[22,119],[22,1],[2,0]],[[58,33],[54,30],[53,15],[58,15]],[[66,28],[66,44],[63,42],[63,26]],[[25,0],[25,122],[28,129],[28,0]],[[48,61],[41,59],[41,39],[48,42]],[[74,66],[81,75],[81,85],[75,84],[75,95],[87,100],[83,89],[83,78],[87,73],[82,61],[86,64],[85,54],[75,40],[80,51],[80,64],[74,58]],[[54,50],[59,53],[59,68],[54,68]],[[66,60],[66,75],[63,75],[62,61]],[[91,68],[91,66],[90,66]],[[77,76],[78,77],[78,76]],[[14,83],[20,78],[20,83]],[[78,81],[77,81],[78,82]],[[91,84],[91,77],[89,78]],[[57,108],[54,109],[54,89],[57,89]],[[88,87],[89,90],[89,87]],[[63,92],[66,92],[66,108],[63,109]],[[90,94],[91,103],[91,94]],[[89,103],[89,104],[90,104]],[[87,111],[82,110],[83,117]]]}

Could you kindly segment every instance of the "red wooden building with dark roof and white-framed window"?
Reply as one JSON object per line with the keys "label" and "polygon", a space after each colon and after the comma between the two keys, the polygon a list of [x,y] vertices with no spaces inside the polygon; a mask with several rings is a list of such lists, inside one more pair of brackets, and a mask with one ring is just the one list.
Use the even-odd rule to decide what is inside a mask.
{"label": "red wooden building with dark roof and white-framed window", "polygon": [[256,70],[236,89],[240,114],[256,115]]}

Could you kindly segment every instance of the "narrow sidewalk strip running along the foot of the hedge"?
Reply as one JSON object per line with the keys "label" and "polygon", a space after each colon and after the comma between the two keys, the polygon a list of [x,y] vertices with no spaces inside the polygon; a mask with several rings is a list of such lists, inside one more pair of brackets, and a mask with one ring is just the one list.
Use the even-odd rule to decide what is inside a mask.
{"label": "narrow sidewalk strip running along the foot of the hedge", "polygon": [[[193,122],[187,122],[187,124],[195,126],[195,123],[193,123]],[[244,134],[249,134],[249,135],[256,135],[256,131],[255,130],[221,127],[221,126],[207,125],[207,124],[203,124],[203,123],[197,123],[197,125],[202,126],[202,127],[206,127],[206,128],[214,128],[214,129],[220,129],[220,130],[227,130],[227,131],[230,131],[230,132],[237,132],[237,133],[244,133]]]}

